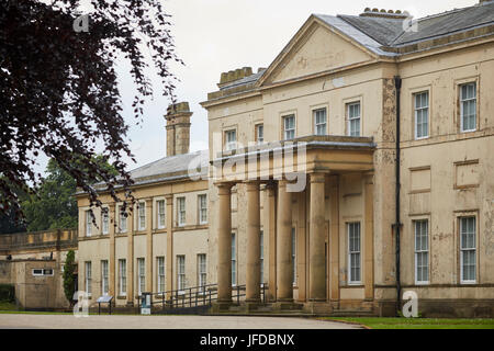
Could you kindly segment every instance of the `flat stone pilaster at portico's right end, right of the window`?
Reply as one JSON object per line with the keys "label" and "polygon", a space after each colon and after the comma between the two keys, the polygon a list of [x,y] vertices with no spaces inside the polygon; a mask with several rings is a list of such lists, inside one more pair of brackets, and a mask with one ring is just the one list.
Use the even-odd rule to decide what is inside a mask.
{"label": "flat stone pilaster at portico's right end, right of the window", "polygon": [[373,174],[363,177],[363,284],[364,298],[374,299],[374,181]]}

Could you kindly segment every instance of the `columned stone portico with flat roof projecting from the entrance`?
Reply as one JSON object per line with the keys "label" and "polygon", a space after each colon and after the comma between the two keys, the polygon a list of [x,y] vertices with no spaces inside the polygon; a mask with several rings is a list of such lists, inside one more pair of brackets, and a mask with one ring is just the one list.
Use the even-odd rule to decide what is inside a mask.
{"label": "columned stone portico with flat roof projecting from the entrance", "polygon": [[[328,303],[339,299],[341,230],[339,223],[339,176],[360,173],[364,179],[366,257],[372,257],[372,138],[304,137],[284,143],[221,152],[213,160],[215,186],[218,193],[217,211],[217,282],[218,303],[232,303],[232,188],[245,184],[247,202],[246,303],[260,299],[260,218],[271,223],[263,230],[269,237],[269,302]],[[260,208],[260,196],[268,201]],[[294,207],[296,205],[296,208]],[[326,220],[329,208],[329,220]],[[330,225],[327,225],[329,222]],[[299,227],[303,238],[296,262],[293,262],[292,230]],[[329,230],[330,228],[330,230]],[[295,231],[297,231],[295,229]],[[243,235],[240,233],[240,235]],[[368,247],[367,247],[368,246]],[[295,267],[293,267],[295,264]],[[304,269],[305,268],[305,269]],[[299,276],[294,299],[294,275]],[[327,274],[328,272],[328,274]],[[364,270],[366,296],[371,296],[372,272]]]}

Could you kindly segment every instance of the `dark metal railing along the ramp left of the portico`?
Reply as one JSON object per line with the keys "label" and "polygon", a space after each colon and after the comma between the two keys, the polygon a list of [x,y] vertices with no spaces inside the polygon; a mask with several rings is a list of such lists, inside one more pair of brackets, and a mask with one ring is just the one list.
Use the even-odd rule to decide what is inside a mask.
{"label": "dark metal railing along the ramp left of the portico", "polygon": [[[266,303],[267,284],[261,284],[261,302]],[[246,285],[232,286],[232,302],[240,304],[246,296]],[[141,308],[141,298],[137,298]],[[151,294],[151,309],[167,312],[171,309],[209,307],[217,301],[217,284],[187,287]]]}

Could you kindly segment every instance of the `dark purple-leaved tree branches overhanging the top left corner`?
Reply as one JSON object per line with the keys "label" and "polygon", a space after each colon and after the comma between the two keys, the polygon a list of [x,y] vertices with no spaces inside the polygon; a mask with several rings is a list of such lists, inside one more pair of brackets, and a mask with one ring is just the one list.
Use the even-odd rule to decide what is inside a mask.
{"label": "dark purple-leaved tree branches overhanging the top left corner", "polygon": [[[81,16],[79,0],[0,2],[1,213],[13,208],[22,215],[14,188],[34,192],[40,186],[41,174],[33,170],[38,152],[55,159],[88,193],[91,205],[101,205],[91,186],[96,179],[115,201],[115,186],[130,189],[133,181],[123,158],[134,158],[116,64],[121,58],[130,63],[137,124],[153,94],[149,60],[161,78],[162,93],[175,101],[169,63],[181,61],[161,3],[91,0],[89,15]],[[94,161],[97,143],[116,176]]]}

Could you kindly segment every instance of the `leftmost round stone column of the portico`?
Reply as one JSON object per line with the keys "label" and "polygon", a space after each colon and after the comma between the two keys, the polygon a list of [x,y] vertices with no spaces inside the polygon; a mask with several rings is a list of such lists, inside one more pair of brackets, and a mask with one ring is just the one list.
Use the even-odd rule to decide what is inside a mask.
{"label": "leftmost round stone column of the portico", "polygon": [[217,302],[232,302],[232,184],[218,183]]}

